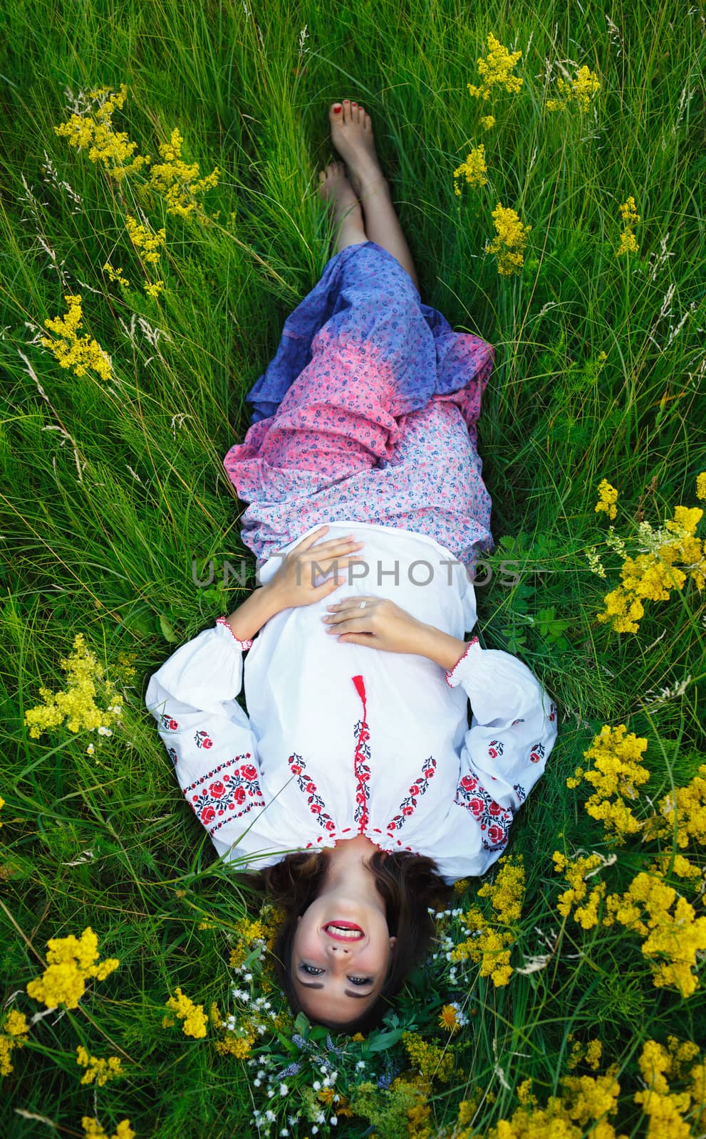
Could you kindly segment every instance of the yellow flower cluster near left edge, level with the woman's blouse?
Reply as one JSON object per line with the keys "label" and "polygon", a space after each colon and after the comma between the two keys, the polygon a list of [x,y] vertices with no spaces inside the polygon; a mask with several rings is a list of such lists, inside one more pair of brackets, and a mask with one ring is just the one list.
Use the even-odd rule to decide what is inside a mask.
{"label": "yellow flower cluster near left edge, level with the woman's blouse", "polygon": [[[66,689],[51,693],[40,688],[39,694],[44,702],[25,712],[25,724],[30,736],[39,739],[48,728],[58,728],[66,721],[70,731],[98,730],[99,736],[111,736],[109,724],[114,723],[122,712],[119,695],[112,681],[104,677],[103,665],[94,653],[86,647],[83,633],[76,633],[71,656],[62,658],[59,664],[67,675]],[[127,663],[122,666],[122,678],[129,680],[135,675],[135,669]],[[106,704],[98,707],[96,698]]]}

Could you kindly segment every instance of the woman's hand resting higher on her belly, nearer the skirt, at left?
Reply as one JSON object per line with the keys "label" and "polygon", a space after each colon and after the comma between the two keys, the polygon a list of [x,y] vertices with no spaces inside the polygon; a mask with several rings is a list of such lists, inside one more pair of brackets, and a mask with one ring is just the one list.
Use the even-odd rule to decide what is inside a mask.
{"label": "woman's hand resting higher on her belly, nearer the skirt, at left", "polygon": [[333,593],[334,589],[347,580],[346,575],[338,576],[334,573],[333,577],[327,577],[322,584],[314,584],[315,577],[328,574],[331,570],[343,570],[349,562],[355,562],[354,551],[365,544],[356,541],[352,534],[346,538],[331,538],[327,542],[317,542],[327,528],[319,526],[308,538],[303,538],[284,556],[276,574],[263,587],[276,600],[278,609],[311,605],[313,601]]}

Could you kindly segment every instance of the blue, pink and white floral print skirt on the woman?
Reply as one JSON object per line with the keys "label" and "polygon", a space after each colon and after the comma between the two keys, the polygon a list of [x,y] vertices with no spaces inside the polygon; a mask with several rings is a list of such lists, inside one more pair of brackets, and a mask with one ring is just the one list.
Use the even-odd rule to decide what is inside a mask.
{"label": "blue, pink and white floral print skirt on the woman", "polygon": [[436,539],[471,565],[492,544],[476,450],[494,349],[454,333],[375,241],[349,245],[284,323],[224,466],[261,559],[315,525]]}

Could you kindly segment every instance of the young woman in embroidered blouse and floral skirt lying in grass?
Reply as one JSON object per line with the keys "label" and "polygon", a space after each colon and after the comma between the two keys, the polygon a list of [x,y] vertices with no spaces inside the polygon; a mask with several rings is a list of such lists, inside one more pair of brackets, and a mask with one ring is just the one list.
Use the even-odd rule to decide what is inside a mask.
{"label": "young woman in embroidered blouse and floral skirt lying in grass", "polygon": [[292,1008],[356,1032],[425,952],[431,900],[505,850],[557,715],[520,661],[464,639],[492,544],[476,423],[494,350],[421,302],[370,115],[328,115],[336,252],[225,459],[260,587],[146,700],[219,854],[285,908]]}

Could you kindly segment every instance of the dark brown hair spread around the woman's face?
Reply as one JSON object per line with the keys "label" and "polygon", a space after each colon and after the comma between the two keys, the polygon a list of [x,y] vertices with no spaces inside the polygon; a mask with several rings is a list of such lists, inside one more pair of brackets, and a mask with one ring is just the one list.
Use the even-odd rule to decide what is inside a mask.
{"label": "dark brown hair spread around the woman's face", "polygon": [[[260,890],[265,888],[286,913],[275,939],[273,957],[277,980],[293,1013],[301,1011],[291,969],[297,918],[317,898],[326,877],[327,863],[324,851],[300,851],[250,876],[251,883]],[[387,854],[378,850],[366,865],[384,901],[388,931],[390,936],[397,937],[397,944],[384,984],[372,1008],[347,1024],[318,1022],[339,1032],[370,1032],[381,1023],[390,1007],[390,998],[399,992],[407,973],[429,948],[435,928],[429,907],[443,903],[451,892],[436,862],[422,854],[407,851]]]}

